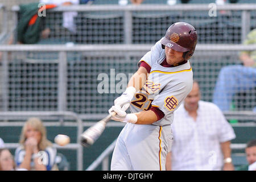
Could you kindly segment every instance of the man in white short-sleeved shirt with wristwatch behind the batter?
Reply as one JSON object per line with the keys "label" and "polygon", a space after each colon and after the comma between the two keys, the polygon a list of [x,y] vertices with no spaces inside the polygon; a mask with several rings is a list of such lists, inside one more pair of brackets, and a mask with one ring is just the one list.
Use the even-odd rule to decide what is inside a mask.
{"label": "man in white short-sleeved shirt with wristwatch behind the batter", "polygon": [[167,155],[167,169],[175,171],[234,170],[230,140],[232,126],[218,107],[200,100],[198,82],[175,111],[174,141]]}

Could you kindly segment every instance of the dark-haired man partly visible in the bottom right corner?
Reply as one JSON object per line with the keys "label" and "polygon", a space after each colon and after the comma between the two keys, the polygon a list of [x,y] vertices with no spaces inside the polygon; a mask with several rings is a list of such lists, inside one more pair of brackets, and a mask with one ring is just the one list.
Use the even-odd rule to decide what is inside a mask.
{"label": "dark-haired man partly visible in the bottom right corner", "polygon": [[238,171],[256,171],[256,139],[246,144],[245,148],[247,165],[238,167]]}

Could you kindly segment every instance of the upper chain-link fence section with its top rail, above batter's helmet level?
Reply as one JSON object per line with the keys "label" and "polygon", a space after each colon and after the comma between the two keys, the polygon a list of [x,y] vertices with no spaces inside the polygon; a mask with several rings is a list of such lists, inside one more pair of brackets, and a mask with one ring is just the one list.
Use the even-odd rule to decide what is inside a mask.
{"label": "upper chain-link fence section with its top rail, above batter's helmet level", "polygon": [[[154,44],[175,22],[193,24],[200,44],[241,44],[256,28],[254,4],[216,6],[215,15],[209,14],[207,5],[176,5],[174,9],[166,5],[106,6],[47,10],[42,30],[50,31],[39,44]],[[19,8],[14,12],[18,13]]]}

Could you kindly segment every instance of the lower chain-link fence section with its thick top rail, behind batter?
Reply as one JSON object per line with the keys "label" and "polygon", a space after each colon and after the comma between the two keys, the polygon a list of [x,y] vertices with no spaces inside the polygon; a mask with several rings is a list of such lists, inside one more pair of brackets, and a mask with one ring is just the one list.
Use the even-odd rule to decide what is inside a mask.
{"label": "lower chain-link fence section with its thick top rail, behind batter", "polygon": [[[123,73],[124,76],[134,73],[137,69],[136,63],[151,46],[0,46],[0,51],[3,52],[2,110],[68,110],[79,114],[84,120],[101,119],[121,93],[115,89],[118,73]],[[201,99],[212,101],[213,88],[220,69],[224,65],[240,64],[238,52],[255,49],[256,45],[199,44],[191,64],[194,77],[201,86]],[[49,57],[52,53],[55,53],[54,59]],[[77,55],[80,55],[79,59]],[[98,85],[102,80],[98,76],[101,74],[109,77],[108,93],[99,92]],[[112,77],[112,82],[116,80],[113,85]],[[254,89],[250,92],[245,109],[235,108],[228,112],[233,115],[233,119],[255,118],[253,107],[256,105],[256,94]]]}

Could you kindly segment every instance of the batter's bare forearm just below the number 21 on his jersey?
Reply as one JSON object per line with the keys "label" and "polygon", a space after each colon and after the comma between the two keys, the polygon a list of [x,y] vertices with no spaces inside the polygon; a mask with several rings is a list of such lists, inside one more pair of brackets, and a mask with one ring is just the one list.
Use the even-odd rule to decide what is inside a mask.
{"label": "batter's bare forearm just below the number 21 on his jersey", "polygon": [[152,110],[141,111],[139,113],[134,113],[134,114],[138,118],[135,124],[138,124],[138,125],[150,125],[158,121],[158,117]]}

